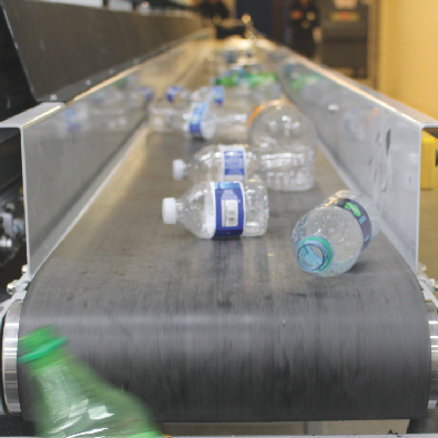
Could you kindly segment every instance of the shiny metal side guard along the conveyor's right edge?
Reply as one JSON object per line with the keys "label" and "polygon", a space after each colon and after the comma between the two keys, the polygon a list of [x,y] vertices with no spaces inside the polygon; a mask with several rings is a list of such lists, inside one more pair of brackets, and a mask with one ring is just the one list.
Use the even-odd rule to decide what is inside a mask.
{"label": "shiny metal side guard along the conveyor's right edge", "polygon": [[281,79],[345,183],[377,203],[384,233],[416,273],[421,131],[438,122],[298,55]]}

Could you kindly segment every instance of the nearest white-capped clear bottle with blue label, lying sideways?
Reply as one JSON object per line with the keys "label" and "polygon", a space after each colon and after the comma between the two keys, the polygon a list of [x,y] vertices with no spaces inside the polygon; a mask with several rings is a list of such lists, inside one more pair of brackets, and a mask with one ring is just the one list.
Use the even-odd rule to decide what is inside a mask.
{"label": "nearest white-capped clear bottle with blue label, lying sideways", "polygon": [[261,236],[268,217],[267,192],[261,181],[204,182],[180,200],[163,200],[164,223],[180,222],[201,238]]}

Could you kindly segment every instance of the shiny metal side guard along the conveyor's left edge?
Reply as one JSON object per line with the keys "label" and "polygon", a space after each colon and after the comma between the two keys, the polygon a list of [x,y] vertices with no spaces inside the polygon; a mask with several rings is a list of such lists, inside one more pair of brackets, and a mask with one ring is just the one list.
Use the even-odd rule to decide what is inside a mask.
{"label": "shiny metal side guard along the conveyor's left edge", "polygon": [[[202,38],[205,32],[201,33]],[[21,135],[28,269],[33,277],[111,172],[118,151],[146,115],[145,88],[161,94],[211,50],[194,38],[81,94],[0,123]],[[12,130],[12,131],[11,131]],[[13,131],[14,130],[14,131]]]}

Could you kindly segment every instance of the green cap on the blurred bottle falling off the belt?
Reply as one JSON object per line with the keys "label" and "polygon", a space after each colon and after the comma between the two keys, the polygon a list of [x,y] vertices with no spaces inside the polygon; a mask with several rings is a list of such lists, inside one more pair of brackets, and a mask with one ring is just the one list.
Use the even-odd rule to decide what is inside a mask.
{"label": "green cap on the blurred bottle falling off the belt", "polygon": [[67,343],[67,337],[58,335],[53,326],[45,326],[31,332],[18,342],[22,356],[19,364],[40,359]]}

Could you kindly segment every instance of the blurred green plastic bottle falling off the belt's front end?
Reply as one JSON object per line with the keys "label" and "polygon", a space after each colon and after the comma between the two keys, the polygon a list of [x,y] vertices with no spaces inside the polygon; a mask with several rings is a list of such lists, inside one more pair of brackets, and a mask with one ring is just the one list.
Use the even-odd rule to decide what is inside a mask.
{"label": "blurred green plastic bottle falling off the belt's front end", "polygon": [[19,340],[19,363],[30,378],[38,436],[160,437],[142,403],[70,355],[65,342],[53,327]]}

